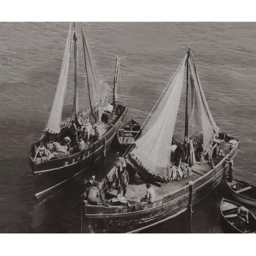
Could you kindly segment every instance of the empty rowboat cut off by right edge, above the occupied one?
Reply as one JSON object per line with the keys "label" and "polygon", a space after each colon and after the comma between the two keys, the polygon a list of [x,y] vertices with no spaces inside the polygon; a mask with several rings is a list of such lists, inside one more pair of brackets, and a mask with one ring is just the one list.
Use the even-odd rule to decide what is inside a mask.
{"label": "empty rowboat cut off by right edge, above the occupied one", "polygon": [[256,206],[256,187],[246,181],[233,178],[232,182],[226,176],[226,185],[233,196],[241,203]]}

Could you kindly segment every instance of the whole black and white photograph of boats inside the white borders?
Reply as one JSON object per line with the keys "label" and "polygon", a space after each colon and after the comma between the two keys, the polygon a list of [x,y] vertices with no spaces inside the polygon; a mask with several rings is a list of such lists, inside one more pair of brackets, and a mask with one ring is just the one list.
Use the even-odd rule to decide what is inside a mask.
{"label": "whole black and white photograph of boats inside the white borders", "polygon": [[256,22],[0,18],[0,59],[1,233],[256,232]]}

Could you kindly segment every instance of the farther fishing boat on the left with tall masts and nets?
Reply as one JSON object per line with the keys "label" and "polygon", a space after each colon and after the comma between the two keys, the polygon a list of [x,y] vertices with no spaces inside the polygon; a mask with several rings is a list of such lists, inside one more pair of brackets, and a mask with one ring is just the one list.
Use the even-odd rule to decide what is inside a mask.
{"label": "farther fishing boat on the left with tall masts and nets", "polygon": [[[80,31],[80,30],[79,30]],[[79,63],[81,79],[78,87],[78,38],[82,44],[84,60]],[[72,47],[74,46],[74,47]],[[72,51],[73,49],[73,51]],[[79,48],[80,49],[80,48]],[[69,81],[71,53],[74,52],[74,80]],[[118,128],[127,117],[128,109],[117,102],[117,83],[119,81],[120,58],[117,56],[114,72],[113,101],[110,103],[112,87],[108,85],[97,73],[91,56],[90,48],[81,28],[78,34],[78,24],[70,24],[65,53],[62,60],[56,94],[48,123],[42,136],[32,144],[30,162],[34,177],[34,190],[36,198],[45,195],[53,188],[77,176],[89,164],[105,156],[110,148]],[[73,71],[72,71],[73,72]],[[86,78],[84,78],[86,77]],[[68,120],[61,122],[62,109],[68,84],[74,86],[73,106]],[[79,90],[80,89],[80,90]],[[87,89],[88,106],[78,104],[78,91]],[[81,100],[81,101],[82,101]],[[96,137],[95,126],[98,127]],[[88,141],[78,147],[78,140],[86,132]],[[72,130],[73,129],[73,130]],[[69,137],[69,143],[63,139]],[[70,147],[70,148],[69,148]]]}

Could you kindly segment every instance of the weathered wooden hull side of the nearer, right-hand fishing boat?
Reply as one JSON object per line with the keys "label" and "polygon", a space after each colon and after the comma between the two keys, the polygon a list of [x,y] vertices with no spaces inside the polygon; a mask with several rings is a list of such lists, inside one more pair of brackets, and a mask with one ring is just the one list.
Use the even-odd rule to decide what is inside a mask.
{"label": "weathered wooden hull side of the nearer, right-hand fishing boat", "polygon": [[[237,158],[240,142],[232,148],[230,155]],[[222,181],[224,173],[228,170],[228,163],[220,161],[215,170],[211,169],[205,175],[194,181],[191,194],[192,204],[200,202]],[[189,185],[185,185],[152,204],[147,204],[144,209],[133,211],[126,206],[105,207],[84,205],[82,232],[139,232],[145,228],[175,218],[189,207]]]}

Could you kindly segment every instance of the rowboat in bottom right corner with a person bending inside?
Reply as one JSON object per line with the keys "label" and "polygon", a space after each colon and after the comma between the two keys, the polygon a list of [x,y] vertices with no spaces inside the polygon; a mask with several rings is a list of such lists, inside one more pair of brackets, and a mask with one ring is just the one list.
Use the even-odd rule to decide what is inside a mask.
{"label": "rowboat in bottom right corner with a person bending inside", "polygon": [[241,206],[242,205],[239,203],[235,203],[223,198],[220,206],[223,219],[234,232],[255,233],[256,218],[250,211],[248,214],[249,224],[247,224],[246,227],[244,224],[241,224],[240,218],[237,214],[237,209]]}

